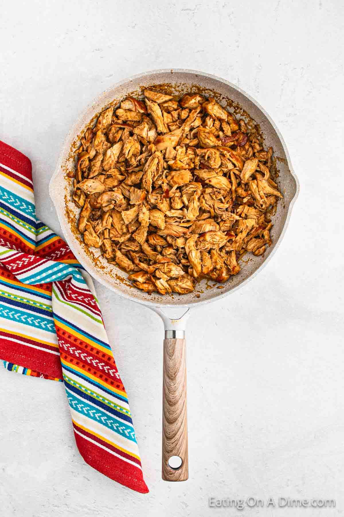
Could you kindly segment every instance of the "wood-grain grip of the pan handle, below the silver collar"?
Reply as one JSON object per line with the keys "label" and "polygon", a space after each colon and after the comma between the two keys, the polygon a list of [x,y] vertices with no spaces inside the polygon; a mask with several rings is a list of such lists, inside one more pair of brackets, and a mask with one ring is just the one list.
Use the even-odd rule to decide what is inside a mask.
{"label": "wood-grain grip of the pan handle, below the silver collar", "polygon": [[[178,456],[179,468],[171,468],[169,459]],[[163,340],[162,381],[162,479],[185,481],[189,477],[188,420],[186,400],[185,339]]]}

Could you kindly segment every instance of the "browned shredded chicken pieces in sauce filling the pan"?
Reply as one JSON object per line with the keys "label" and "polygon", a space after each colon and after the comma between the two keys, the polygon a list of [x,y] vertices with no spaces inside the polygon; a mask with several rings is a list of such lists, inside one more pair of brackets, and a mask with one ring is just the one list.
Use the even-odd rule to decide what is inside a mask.
{"label": "browned shredded chicken pieces in sauce filling the pan", "polygon": [[73,200],[86,246],[146,293],[225,282],[271,245],[272,148],[214,98],[145,89],[86,129]]}

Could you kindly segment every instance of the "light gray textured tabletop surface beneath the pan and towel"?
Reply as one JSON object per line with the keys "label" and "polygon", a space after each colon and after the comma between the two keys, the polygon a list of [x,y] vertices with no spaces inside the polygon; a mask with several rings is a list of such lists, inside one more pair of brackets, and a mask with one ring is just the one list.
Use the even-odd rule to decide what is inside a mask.
{"label": "light gray textured tabletop surface beneath the pan and towel", "polygon": [[121,78],[155,68],[204,70],[255,97],[284,136],[301,193],[267,268],[189,322],[190,479],[160,479],[162,324],[96,285],[150,494],[81,460],[62,385],[0,371],[2,515],[239,513],[209,509],[209,496],[335,498],[334,510],[244,514],[342,515],[343,6],[146,4],[2,6],[0,138],[32,161],[39,217],[59,232],[47,185],[84,105]]}

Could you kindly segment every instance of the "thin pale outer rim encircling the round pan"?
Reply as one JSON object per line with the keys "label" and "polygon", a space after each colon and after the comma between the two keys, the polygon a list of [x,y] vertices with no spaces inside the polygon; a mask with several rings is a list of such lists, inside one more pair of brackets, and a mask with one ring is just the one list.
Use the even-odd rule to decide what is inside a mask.
{"label": "thin pale outer rim encircling the round pan", "polygon": [[[191,302],[188,302],[188,303],[159,303],[158,301],[150,301],[150,300],[140,300],[138,299],[137,297],[134,297],[134,296],[130,296],[129,294],[123,292],[121,290],[120,287],[117,287],[117,286],[113,286],[113,285],[109,285],[108,284],[108,281],[105,280],[102,275],[100,275],[100,273],[98,273],[96,270],[95,271],[92,271],[92,273],[90,273],[90,275],[95,279],[97,280],[98,282],[100,282],[102,285],[108,287],[111,291],[119,294],[119,296],[123,296],[124,298],[127,298],[129,300],[132,300],[136,303],[140,303],[141,305],[145,305],[145,306],[148,306],[148,307],[160,307],[160,308],[163,308],[163,307],[169,307],[169,308],[176,308],[176,307],[192,307],[192,306],[195,306],[195,305],[204,305],[205,303],[209,303],[209,302],[212,302],[212,301],[215,301],[215,300],[220,300],[222,298],[224,298],[225,296],[228,296],[229,294],[232,294],[234,293],[235,291],[237,291],[240,287],[243,287],[244,285],[246,285],[249,281],[253,280],[255,278],[255,276],[257,275],[258,272],[260,272],[268,263],[269,261],[271,260],[271,257],[275,254],[277,248],[279,248],[280,244],[281,244],[281,241],[285,235],[285,232],[287,230],[287,227],[288,227],[288,224],[289,224],[289,220],[290,220],[290,215],[291,215],[291,211],[292,211],[292,208],[294,206],[294,203],[295,201],[297,200],[297,197],[299,195],[299,191],[300,191],[300,184],[299,184],[299,180],[298,180],[298,177],[296,176],[294,170],[293,170],[293,167],[292,167],[292,164],[291,164],[291,160],[290,160],[290,156],[289,156],[289,152],[288,152],[288,149],[287,149],[287,146],[286,146],[286,143],[283,139],[283,136],[280,132],[280,130],[277,128],[276,124],[274,123],[274,121],[272,120],[272,118],[270,117],[270,115],[266,112],[266,110],[261,107],[261,105],[251,96],[249,95],[248,93],[246,93],[243,89],[241,89],[239,86],[229,82],[229,81],[226,81],[225,79],[222,79],[216,75],[212,75],[212,74],[208,74],[206,72],[201,72],[199,70],[192,70],[192,69],[184,69],[184,68],[163,68],[163,69],[157,69],[157,70],[149,70],[149,71],[146,71],[146,72],[141,72],[139,74],[135,74],[135,75],[131,75],[130,77],[126,78],[126,79],[122,79],[116,83],[114,83],[113,85],[111,85],[109,88],[107,88],[106,90],[104,90],[104,92],[98,96],[96,96],[91,102],[89,102],[87,104],[87,106],[81,111],[81,113],[79,114],[79,116],[77,117],[77,119],[75,120],[75,122],[72,124],[72,127],[71,129],[69,130],[69,132],[67,133],[67,135],[65,136],[65,139],[63,141],[63,144],[62,144],[62,147],[61,147],[61,150],[60,150],[60,153],[59,153],[59,157],[58,157],[58,160],[57,160],[57,164],[56,164],[56,168],[55,168],[55,171],[52,175],[52,178],[50,180],[50,183],[49,183],[49,194],[50,194],[50,197],[53,201],[53,204],[54,204],[54,207],[55,207],[55,210],[56,210],[56,214],[57,214],[57,218],[58,218],[58,221],[60,223],[60,226],[61,226],[61,230],[62,230],[62,233],[63,233],[63,236],[64,238],[66,239],[66,241],[68,242],[68,238],[65,234],[65,231],[64,231],[64,226],[65,226],[65,218],[63,217],[63,215],[61,214],[60,210],[58,210],[56,208],[56,205],[57,203],[55,202],[55,194],[54,194],[54,185],[55,185],[55,182],[56,180],[58,179],[58,175],[60,173],[60,169],[61,169],[61,166],[62,166],[62,161],[63,161],[63,158],[65,156],[65,148],[66,146],[68,145],[68,142],[70,141],[70,139],[72,138],[75,138],[75,129],[76,127],[79,126],[79,124],[81,123],[81,121],[83,120],[83,117],[84,117],[84,114],[89,110],[91,109],[94,104],[96,104],[97,102],[100,101],[100,99],[107,95],[109,92],[111,92],[111,90],[113,90],[114,88],[117,88],[117,87],[120,87],[122,86],[124,83],[127,83],[127,82],[131,82],[131,81],[134,81],[136,79],[142,79],[144,78],[145,76],[148,76],[148,75],[151,75],[151,74],[161,74],[161,73],[171,73],[173,74],[174,72],[177,72],[177,73],[187,73],[187,74],[195,74],[195,75],[201,75],[202,77],[206,77],[206,78],[209,78],[209,79],[213,79],[213,80],[216,80],[216,81],[220,81],[221,83],[227,85],[227,86],[230,86],[232,88],[234,88],[235,90],[237,90],[237,92],[239,92],[241,95],[243,95],[244,97],[246,97],[249,101],[251,101],[253,104],[256,105],[256,107],[264,114],[264,116],[268,119],[268,121],[270,122],[270,124],[272,125],[273,129],[275,130],[278,138],[280,139],[280,142],[282,144],[282,147],[283,147],[283,150],[285,152],[285,156],[286,156],[286,159],[287,159],[287,163],[288,163],[288,168],[289,168],[289,171],[290,171],[290,174],[291,176],[293,177],[295,183],[296,183],[296,190],[295,190],[295,193],[292,197],[292,199],[290,200],[290,203],[289,203],[289,206],[288,206],[288,209],[287,209],[287,215],[286,215],[286,220],[285,220],[285,223],[283,225],[283,229],[282,229],[282,232],[280,234],[280,236],[278,237],[277,241],[275,242],[275,245],[274,245],[274,248],[273,250],[270,252],[269,256],[267,258],[265,258],[264,262],[261,263],[258,268],[253,272],[251,273],[251,275],[243,280],[239,285],[237,286],[234,286],[232,288],[230,288],[230,290],[228,290],[227,292],[225,293],[221,293],[221,292],[218,292],[218,293],[214,293],[214,296],[211,296],[211,298],[207,299],[207,300],[202,300],[201,298],[195,298],[193,301]],[[81,265],[84,266],[83,264],[83,256],[81,255],[81,252],[79,250],[79,247],[77,246],[76,242],[68,242],[68,245],[71,249],[71,251],[74,253],[74,255],[76,256],[77,260],[80,262]],[[85,269],[88,271],[88,268],[86,266],[84,266]]]}

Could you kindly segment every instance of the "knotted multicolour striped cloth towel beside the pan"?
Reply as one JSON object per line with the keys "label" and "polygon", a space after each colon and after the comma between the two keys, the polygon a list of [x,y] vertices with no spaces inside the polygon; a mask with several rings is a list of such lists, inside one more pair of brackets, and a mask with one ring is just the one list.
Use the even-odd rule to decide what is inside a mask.
{"label": "knotted multicolour striped cloth towel beside the pan", "polygon": [[130,489],[148,492],[92,280],[67,244],[36,218],[31,162],[3,142],[0,357],[7,370],[63,381],[86,463]]}

